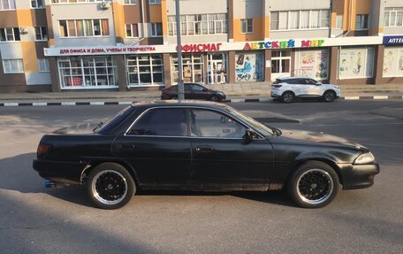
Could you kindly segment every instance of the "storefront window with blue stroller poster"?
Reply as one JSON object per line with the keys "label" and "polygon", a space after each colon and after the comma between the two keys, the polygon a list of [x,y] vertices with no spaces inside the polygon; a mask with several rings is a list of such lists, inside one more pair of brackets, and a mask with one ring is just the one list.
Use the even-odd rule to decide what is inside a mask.
{"label": "storefront window with blue stroller poster", "polygon": [[263,54],[235,54],[236,81],[263,81]]}

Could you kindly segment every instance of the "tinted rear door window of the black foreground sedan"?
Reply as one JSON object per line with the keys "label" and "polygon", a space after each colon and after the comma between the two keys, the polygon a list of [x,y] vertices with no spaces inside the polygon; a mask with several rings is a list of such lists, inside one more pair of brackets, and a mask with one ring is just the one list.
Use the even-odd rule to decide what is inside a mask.
{"label": "tinted rear door window of the black foreground sedan", "polygon": [[145,113],[128,135],[186,136],[186,109],[154,109]]}

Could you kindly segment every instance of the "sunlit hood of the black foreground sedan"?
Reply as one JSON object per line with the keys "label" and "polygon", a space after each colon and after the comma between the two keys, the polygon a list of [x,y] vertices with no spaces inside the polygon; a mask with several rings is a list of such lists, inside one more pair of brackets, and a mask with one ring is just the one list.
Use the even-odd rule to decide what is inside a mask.
{"label": "sunlit hood of the black foreground sedan", "polygon": [[323,132],[310,132],[310,131],[300,131],[292,129],[283,129],[282,132],[283,137],[297,141],[335,144],[335,145],[353,147],[357,150],[361,149],[368,150],[366,147],[362,146],[357,142],[351,142],[346,138],[337,135],[327,135],[324,134]]}

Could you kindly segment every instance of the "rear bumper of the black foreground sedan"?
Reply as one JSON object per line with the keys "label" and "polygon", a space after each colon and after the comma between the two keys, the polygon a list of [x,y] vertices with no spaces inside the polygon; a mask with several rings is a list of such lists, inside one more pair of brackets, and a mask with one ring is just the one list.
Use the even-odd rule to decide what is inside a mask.
{"label": "rear bumper of the black foreground sedan", "polygon": [[69,184],[80,184],[81,173],[86,167],[84,162],[54,161],[34,159],[33,167],[39,175],[49,181],[58,181]]}

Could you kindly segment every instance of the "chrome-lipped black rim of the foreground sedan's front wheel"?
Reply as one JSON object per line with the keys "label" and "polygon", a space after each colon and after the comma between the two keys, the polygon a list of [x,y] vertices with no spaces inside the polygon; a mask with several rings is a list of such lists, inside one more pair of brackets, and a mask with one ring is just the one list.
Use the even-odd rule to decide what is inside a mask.
{"label": "chrome-lipped black rim of the foreground sedan's front wheel", "polygon": [[323,169],[310,169],[300,175],[297,181],[297,194],[308,204],[321,204],[333,193],[331,175]]}

